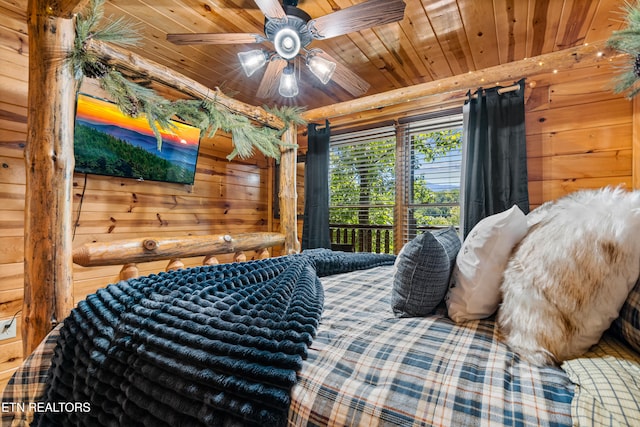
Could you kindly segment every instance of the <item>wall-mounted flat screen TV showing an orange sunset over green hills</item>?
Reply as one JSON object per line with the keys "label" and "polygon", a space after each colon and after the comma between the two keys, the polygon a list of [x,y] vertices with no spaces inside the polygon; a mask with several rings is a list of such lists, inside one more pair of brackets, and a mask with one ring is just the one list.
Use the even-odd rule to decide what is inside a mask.
{"label": "wall-mounted flat screen TV showing an orange sunset over green hills", "polygon": [[75,171],[97,175],[193,184],[200,129],[173,122],[162,130],[162,147],[140,115],[132,118],[105,99],[78,94],[75,117]]}

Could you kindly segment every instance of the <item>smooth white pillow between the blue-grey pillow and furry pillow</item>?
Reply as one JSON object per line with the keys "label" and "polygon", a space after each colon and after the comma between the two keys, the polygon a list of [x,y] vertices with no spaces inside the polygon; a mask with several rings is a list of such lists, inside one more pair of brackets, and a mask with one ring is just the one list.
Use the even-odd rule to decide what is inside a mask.
{"label": "smooth white pillow between the blue-grey pillow and furry pillow", "polygon": [[473,227],[453,268],[446,296],[449,317],[456,322],[484,319],[500,304],[500,283],[513,247],[527,233],[527,219],[514,205]]}

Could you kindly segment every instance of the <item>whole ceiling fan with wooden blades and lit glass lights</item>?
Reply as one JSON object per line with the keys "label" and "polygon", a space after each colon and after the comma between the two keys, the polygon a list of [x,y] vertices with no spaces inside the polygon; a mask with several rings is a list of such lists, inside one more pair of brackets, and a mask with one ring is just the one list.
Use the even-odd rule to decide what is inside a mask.
{"label": "whole ceiling fan with wooden blades and lit glass lights", "polygon": [[[178,45],[252,44],[271,42],[274,50],[253,49],[239,52],[238,59],[247,76],[265,70],[256,96],[268,98],[278,91],[285,97],[298,94],[295,59],[300,55],[309,70],[323,84],[334,81],[353,96],[363,95],[369,83],[326,52],[307,48],[314,39],[328,39],[354,31],[402,20],[403,0],[367,0],[362,3],[312,19],[299,9],[298,0],[254,0],[265,15],[264,34],[253,33],[184,33],[168,34],[167,40]],[[302,53],[301,53],[302,51]]]}

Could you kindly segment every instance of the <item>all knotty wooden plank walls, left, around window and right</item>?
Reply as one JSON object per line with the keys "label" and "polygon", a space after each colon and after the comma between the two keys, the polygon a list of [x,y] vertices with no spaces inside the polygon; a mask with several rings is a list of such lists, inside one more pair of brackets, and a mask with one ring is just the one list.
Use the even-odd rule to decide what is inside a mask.
{"label": "all knotty wooden plank walls, left, around window and right", "polygon": [[[24,12],[0,0],[0,16],[0,320],[6,320],[22,307],[28,44]],[[532,207],[578,188],[631,186],[633,103],[609,90],[613,71],[603,65],[527,79],[535,85],[527,90],[526,103]],[[411,108],[419,113],[451,107],[451,102],[436,105],[438,99],[426,98],[419,108],[416,103]],[[379,113],[358,117],[370,121]],[[332,123],[349,120],[353,118]],[[73,202],[79,220],[74,244],[141,234],[277,230],[277,220],[269,211],[273,171],[268,162],[261,156],[229,162],[225,159],[229,152],[225,135],[203,140],[193,188],[98,176],[87,176],[85,181],[85,176],[76,175]],[[302,172],[297,179],[302,196]],[[300,202],[300,213],[302,206]],[[201,260],[184,261],[189,266]],[[141,273],[165,266],[160,262],[143,265]],[[116,281],[118,272],[119,267],[76,267],[75,299]],[[18,337],[19,328],[18,324]],[[19,339],[0,342],[0,389],[21,362],[21,351]]]}

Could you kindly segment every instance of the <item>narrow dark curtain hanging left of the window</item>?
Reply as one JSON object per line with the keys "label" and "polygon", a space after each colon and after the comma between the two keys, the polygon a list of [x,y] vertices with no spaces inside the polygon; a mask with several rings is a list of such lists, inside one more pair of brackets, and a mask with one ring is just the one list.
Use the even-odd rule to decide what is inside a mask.
{"label": "narrow dark curtain hanging left of the window", "polygon": [[307,158],[304,169],[304,219],[302,250],[331,248],[329,236],[329,122],[318,129],[308,125]]}

